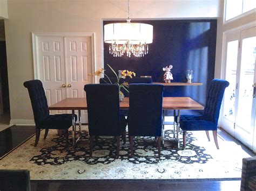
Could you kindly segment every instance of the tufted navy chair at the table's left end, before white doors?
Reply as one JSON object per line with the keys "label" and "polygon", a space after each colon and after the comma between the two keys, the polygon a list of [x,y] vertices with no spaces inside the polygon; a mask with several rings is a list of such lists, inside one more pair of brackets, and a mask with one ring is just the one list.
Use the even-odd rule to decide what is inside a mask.
{"label": "tufted navy chair at the table's left end, before white doors", "polygon": [[41,129],[45,129],[44,139],[47,137],[49,129],[64,130],[66,146],[68,146],[68,129],[70,126],[72,126],[72,117],[75,118],[76,122],[77,116],[72,116],[72,114],[50,115],[43,84],[40,80],[26,81],[24,82],[24,87],[28,88],[29,91],[29,97],[36,124],[35,146],[37,146]]}

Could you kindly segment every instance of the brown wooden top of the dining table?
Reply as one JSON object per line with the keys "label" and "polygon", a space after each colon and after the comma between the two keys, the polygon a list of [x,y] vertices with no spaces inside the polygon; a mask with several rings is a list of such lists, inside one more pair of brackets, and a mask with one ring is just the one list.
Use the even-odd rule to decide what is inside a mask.
{"label": "brown wooden top of the dining table", "polygon": [[[120,109],[129,109],[129,97],[125,97],[120,103]],[[86,110],[86,98],[65,98],[51,105],[49,110]],[[163,109],[193,109],[203,110],[203,105],[197,103],[190,97],[164,97]]]}

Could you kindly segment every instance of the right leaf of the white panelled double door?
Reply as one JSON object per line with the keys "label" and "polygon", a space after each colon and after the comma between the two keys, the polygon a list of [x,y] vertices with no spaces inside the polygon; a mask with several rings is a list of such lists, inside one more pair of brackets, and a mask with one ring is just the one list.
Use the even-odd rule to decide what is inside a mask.
{"label": "right leaf of the white panelled double door", "polygon": [[[85,97],[84,85],[92,83],[91,37],[65,37],[67,97]],[[82,123],[87,111],[81,112]]]}

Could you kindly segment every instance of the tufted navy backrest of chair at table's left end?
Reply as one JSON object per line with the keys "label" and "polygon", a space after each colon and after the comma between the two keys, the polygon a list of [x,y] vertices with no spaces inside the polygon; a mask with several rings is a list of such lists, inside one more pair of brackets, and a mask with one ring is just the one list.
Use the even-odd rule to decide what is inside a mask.
{"label": "tufted navy backrest of chair at table's left end", "polygon": [[30,80],[23,83],[28,88],[36,125],[39,121],[49,116],[48,103],[43,84],[40,80]]}

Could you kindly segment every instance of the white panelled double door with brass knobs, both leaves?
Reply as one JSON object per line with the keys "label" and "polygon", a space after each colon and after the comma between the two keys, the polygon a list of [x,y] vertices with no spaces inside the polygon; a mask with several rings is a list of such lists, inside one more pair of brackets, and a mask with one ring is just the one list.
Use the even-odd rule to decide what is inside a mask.
{"label": "white panelled double door with brass knobs, both leaves", "polygon": [[[36,37],[37,78],[42,81],[48,105],[66,97],[85,97],[84,85],[92,83],[92,37]],[[34,48],[35,50],[35,48]],[[71,111],[51,111],[62,114]],[[81,112],[87,123],[87,112]]]}

